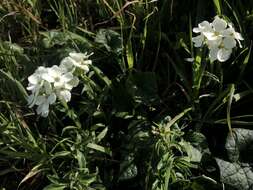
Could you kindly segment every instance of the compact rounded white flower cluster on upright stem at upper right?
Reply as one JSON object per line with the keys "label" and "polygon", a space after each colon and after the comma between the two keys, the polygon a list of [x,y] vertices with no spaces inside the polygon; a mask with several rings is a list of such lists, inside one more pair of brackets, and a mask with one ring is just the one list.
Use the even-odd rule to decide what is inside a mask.
{"label": "compact rounded white flower cluster on upright stem at upper right", "polygon": [[235,31],[232,23],[227,23],[219,16],[216,16],[212,23],[208,21],[199,23],[198,27],[193,28],[193,32],[200,33],[200,35],[192,38],[194,46],[207,45],[211,62],[215,60],[227,61],[237,43],[239,47],[242,47],[240,43],[243,40],[241,34]]}

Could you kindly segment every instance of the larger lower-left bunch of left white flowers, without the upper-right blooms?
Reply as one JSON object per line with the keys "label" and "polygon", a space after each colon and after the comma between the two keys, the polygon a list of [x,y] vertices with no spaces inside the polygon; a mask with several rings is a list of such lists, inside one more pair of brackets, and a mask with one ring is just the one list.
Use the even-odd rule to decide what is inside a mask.
{"label": "larger lower-left bunch of left white flowers, without the upper-right blooms", "polygon": [[71,90],[79,83],[79,79],[73,73],[54,65],[50,68],[39,67],[34,74],[28,77],[27,89],[32,92],[28,96],[28,105],[37,105],[37,114],[47,117],[49,105],[55,103],[56,99],[69,102]]}

